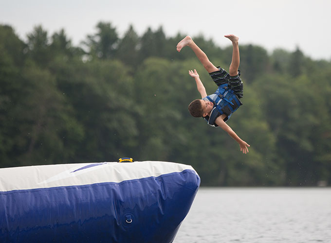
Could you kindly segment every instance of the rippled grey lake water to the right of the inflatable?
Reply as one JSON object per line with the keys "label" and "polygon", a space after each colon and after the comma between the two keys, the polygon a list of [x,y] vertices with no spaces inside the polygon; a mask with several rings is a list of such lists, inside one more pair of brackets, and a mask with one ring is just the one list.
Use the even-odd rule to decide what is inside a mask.
{"label": "rippled grey lake water to the right of the inflatable", "polygon": [[200,188],[174,243],[331,243],[331,188]]}

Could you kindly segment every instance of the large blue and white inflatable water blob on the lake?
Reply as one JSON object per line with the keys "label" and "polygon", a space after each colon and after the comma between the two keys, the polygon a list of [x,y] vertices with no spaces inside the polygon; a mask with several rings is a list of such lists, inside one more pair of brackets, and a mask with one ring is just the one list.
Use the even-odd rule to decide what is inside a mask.
{"label": "large blue and white inflatable water blob on the lake", "polygon": [[161,161],[0,169],[0,242],[171,243],[199,185]]}

